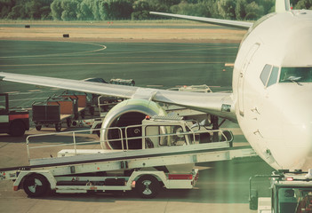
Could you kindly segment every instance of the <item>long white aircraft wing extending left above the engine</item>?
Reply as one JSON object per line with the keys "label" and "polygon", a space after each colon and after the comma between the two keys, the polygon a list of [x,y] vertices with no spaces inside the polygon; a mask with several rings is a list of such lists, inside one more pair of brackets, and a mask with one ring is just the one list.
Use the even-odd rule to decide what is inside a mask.
{"label": "long white aircraft wing extending left above the engine", "polygon": [[231,93],[199,93],[187,91],[165,91],[150,88],[124,86],[108,83],[93,83],[79,80],[61,79],[35,75],[20,75],[0,72],[0,80],[28,83],[44,87],[60,88],[70,91],[83,91],[125,99],[148,99],[156,102],[186,106],[208,114],[236,121]]}

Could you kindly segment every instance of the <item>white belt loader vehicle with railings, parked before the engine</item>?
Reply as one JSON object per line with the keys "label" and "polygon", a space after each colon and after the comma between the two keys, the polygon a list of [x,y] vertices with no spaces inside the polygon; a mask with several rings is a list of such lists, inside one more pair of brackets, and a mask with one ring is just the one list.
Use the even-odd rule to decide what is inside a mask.
{"label": "white belt loader vehicle with railings, parked before the engine", "polygon": [[[213,132],[191,130],[187,127],[186,121],[181,120],[159,118],[156,121],[148,120],[140,126],[114,128],[124,133],[120,134],[121,137],[117,140],[114,139],[117,143],[121,143],[122,150],[78,149],[79,145],[76,139],[73,139],[74,149],[60,150],[57,157],[39,159],[31,159],[30,151],[43,146],[31,147],[29,139],[42,135],[29,136],[29,165],[1,169],[0,178],[14,180],[14,190],[23,188],[29,196],[41,196],[50,189],[57,193],[134,189],[140,196],[152,198],[162,187],[168,189],[194,187],[198,177],[198,170],[194,167],[196,162],[225,161],[256,155],[250,146],[232,147],[231,138],[228,139],[222,130],[218,130],[221,138],[219,142],[196,142],[196,138],[201,138],[196,137],[198,132],[210,134]],[[130,136],[132,130],[138,128],[143,130],[142,136]],[[75,138],[75,135],[82,131],[69,133]],[[58,136],[60,134],[65,132],[56,133]],[[132,143],[133,140],[140,141],[142,149],[129,150],[128,143]],[[82,142],[81,145],[87,143],[99,141]],[[52,146],[49,145],[50,147]]]}

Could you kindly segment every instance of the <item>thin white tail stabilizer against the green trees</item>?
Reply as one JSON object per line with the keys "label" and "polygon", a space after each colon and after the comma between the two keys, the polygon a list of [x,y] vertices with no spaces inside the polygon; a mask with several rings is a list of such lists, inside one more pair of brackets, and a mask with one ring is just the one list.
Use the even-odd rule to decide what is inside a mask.
{"label": "thin white tail stabilizer against the green trees", "polygon": [[231,27],[231,28],[249,29],[253,25],[252,22],[239,21],[239,20],[219,20],[219,19],[204,18],[204,17],[197,17],[197,16],[172,14],[172,13],[166,13],[166,12],[149,12],[149,13],[154,14],[154,15],[167,16],[167,17],[179,18],[179,19],[184,19],[184,20],[196,20],[196,21],[201,21],[205,23],[221,25],[221,26],[226,26],[226,27]]}

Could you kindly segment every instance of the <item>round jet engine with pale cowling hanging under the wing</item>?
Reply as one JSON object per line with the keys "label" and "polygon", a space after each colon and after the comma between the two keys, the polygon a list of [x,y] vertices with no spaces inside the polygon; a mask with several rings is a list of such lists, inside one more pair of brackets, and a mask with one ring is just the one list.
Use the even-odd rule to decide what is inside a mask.
{"label": "round jet engine with pale cowling hanging under the wing", "polygon": [[[146,99],[128,99],[114,106],[106,115],[102,123],[100,132],[100,145],[103,149],[122,149],[120,140],[121,134],[125,137],[125,130],[122,131],[115,127],[126,127],[130,125],[140,125],[142,120],[147,116],[165,115],[164,109],[156,102]],[[110,128],[108,130],[108,128]],[[140,137],[141,127],[129,128],[126,130],[127,137]],[[109,140],[109,141],[108,141]],[[111,141],[113,140],[113,141]],[[126,142],[124,140],[124,149]],[[142,148],[142,139],[128,140],[129,149]]]}

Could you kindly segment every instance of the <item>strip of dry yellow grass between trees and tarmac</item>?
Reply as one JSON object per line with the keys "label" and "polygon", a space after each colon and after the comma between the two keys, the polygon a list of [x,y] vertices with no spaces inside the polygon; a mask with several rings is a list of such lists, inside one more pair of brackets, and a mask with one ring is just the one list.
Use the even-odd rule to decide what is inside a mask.
{"label": "strip of dry yellow grass between trees and tarmac", "polygon": [[[29,25],[30,28],[25,28]],[[0,39],[112,42],[239,43],[245,30],[186,20],[149,21],[0,21]],[[63,38],[68,34],[69,38]]]}

